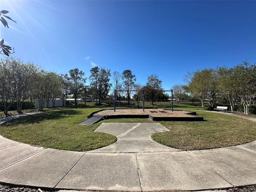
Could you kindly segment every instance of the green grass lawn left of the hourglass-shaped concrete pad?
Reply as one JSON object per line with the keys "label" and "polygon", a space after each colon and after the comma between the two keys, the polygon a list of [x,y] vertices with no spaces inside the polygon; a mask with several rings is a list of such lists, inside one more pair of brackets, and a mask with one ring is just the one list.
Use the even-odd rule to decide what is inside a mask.
{"label": "green grass lawn left of the hourglass-shaped concrete pad", "polygon": [[101,123],[79,126],[88,114],[100,108],[72,109],[24,116],[0,126],[6,138],[43,147],[88,151],[116,142],[116,136],[93,132]]}

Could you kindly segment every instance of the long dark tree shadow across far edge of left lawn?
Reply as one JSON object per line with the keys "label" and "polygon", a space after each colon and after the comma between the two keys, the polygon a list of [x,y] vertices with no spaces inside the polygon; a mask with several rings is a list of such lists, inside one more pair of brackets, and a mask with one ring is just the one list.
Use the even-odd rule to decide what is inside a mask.
{"label": "long dark tree shadow across far edge of left lawn", "polygon": [[77,110],[59,110],[59,111],[49,111],[49,112],[44,112],[40,114],[33,114],[33,115],[28,115],[20,118],[16,118],[14,120],[10,120],[3,125],[6,126],[9,123],[12,125],[15,124],[31,124],[31,123],[40,123],[44,120],[57,120],[73,115],[78,115],[82,114],[80,111]]}

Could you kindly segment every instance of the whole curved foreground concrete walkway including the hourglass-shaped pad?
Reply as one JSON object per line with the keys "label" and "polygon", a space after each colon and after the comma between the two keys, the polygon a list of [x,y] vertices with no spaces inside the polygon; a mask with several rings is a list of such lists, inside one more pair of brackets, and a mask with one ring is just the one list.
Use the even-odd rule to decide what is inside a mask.
{"label": "whole curved foreground concrete walkway including the hourglass-shaped pad", "polygon": [[151,140],[159,123],[103,123],[118,141],[89,152],[35,147],[0,136],[0,182],[69,190],[207,190],[256,184],[256,141],[182,151]]}

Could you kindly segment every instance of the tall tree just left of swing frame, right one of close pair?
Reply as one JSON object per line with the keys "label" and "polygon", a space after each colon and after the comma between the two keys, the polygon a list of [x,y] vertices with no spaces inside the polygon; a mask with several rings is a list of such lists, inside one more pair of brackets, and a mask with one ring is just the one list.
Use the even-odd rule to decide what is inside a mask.
{"label": "tall tree just left of swing frame, right one of close pair", "polygon": [[98,90],[99,90],[99,104],[101,104],[101,99],[106,98],[110,87],[112,84],[109,83],[110,81],[110,70],[106,70],[105,68],[100,68],[98,72]]}

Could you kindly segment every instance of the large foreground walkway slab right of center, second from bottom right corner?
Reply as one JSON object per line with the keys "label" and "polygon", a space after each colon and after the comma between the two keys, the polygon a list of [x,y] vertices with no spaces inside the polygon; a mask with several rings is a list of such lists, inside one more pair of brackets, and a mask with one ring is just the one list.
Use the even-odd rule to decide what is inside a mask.
{"label": "large foreground walkway slab right of center, second from bottom right corner", "polygon": [[186,151],[138,153],[142,191],[233,187]]}

